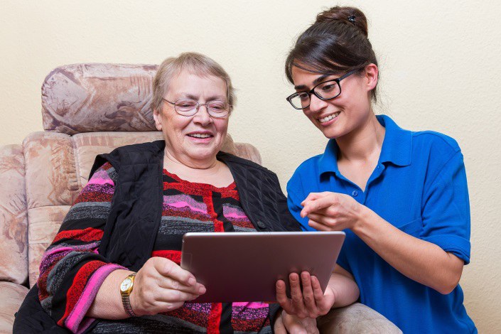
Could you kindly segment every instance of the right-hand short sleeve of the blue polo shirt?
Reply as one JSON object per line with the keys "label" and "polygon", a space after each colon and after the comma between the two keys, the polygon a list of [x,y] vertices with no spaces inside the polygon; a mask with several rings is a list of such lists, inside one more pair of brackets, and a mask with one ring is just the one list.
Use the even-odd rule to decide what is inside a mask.
{"label": "right-hand short sleeve of the blue polo shirt", "polygon": [[424,192],[421,239],[470,262],[470,204],[463,154],[446,161]]}

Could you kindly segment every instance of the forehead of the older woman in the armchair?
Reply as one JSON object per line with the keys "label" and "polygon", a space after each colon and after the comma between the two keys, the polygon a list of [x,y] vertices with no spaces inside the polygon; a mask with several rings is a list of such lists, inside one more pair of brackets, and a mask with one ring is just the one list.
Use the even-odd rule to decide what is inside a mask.
{"label": "forehead of the older woman in the armchair", "polygon": [[226,83],[215,75],[203,75],[181,70],[169,82],[169,94],[221,95],[226,96]]}

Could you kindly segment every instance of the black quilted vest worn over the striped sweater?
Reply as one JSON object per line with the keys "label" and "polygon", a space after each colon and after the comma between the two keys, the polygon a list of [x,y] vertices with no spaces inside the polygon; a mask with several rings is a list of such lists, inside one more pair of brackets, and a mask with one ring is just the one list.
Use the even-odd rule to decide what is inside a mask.
{"label": "black quilted vest worn over the striped sweater", "polygon": [[[122,146],[97,156],[90,176],[106,161],[118,173],[99,253],[138,271],[151,257],[161,221],[165,141]],[[232,173],[240,203],[258,231],[299,231],[275,173],[257,163],[219,152]]]}

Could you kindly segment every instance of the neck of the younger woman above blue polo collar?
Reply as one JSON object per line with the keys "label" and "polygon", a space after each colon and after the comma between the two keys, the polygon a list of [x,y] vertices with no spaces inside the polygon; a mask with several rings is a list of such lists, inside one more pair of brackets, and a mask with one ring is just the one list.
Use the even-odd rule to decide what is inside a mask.
{"label": "neck of the younger woman above blue polo collar", "polygon": [[338,139],[338,159],[368,161],[379,158],[384,140],[384,126],[379,124],[373,112],[358,129]]}

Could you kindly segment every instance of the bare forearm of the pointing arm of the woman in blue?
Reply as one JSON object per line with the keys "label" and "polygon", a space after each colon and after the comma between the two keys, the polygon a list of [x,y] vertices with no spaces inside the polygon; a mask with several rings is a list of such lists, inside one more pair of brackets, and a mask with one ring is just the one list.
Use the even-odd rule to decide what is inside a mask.
{"label": "bare forearm of the pointing arm of the woman in blue", "polygon": [[440,293],[450,293],[456,287],[463,270],[461,259],[436,244],[402,232],[372,210],[365,209],[362,223],[356,225],[353,232],[380,257],[404,276]]}

